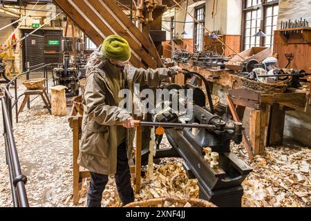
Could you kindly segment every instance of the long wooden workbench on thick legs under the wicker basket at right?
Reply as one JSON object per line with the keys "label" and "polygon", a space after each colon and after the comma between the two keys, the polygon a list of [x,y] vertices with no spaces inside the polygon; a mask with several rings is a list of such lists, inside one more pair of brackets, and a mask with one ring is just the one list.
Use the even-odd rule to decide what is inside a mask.
{"label": "long wooden workbench on thick legs under the wicker basket at right", "polygon": [[[220,103],[227,106],[227,95],[229,95],[234,105],[232,108],[236,109],[234,112],[238,115],[236,119],[242,121],[245,108],[251,109],[249,144],[254,155],[263,155],[266,146],[283,144],[285,111],[307,111],[309,105],[310,91],[307,90],[286,88],[285,92],[276,90],[275,93],[265,94],[243,88],[244,78],[236,75],[234,70],[211,70],[190,64],[179,64],[179,66],[205,76],[211,82],[213,93],[226,98],[220,99]],[[178,74],[176,83],[185,84],[185,76]]]}

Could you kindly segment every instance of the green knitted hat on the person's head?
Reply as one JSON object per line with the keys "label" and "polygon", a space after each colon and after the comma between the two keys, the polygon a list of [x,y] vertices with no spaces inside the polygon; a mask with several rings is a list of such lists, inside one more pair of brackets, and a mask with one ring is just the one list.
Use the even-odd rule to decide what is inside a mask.
{"label": "green knitted hat on the person's head", "polygon": [[102,55],[106,59],[129,61],[131,59],[131,48],[126,39],[118,35],[111,35],[106,37],[102,44]]}

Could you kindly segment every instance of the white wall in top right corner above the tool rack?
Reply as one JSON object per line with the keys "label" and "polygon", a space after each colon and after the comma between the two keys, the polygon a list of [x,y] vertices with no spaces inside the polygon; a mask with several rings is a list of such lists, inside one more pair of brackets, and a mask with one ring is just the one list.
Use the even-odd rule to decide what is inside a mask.
{"label": "white wall in top right corner above the tool rack", "polygon": [[279,0],[279,28],[281,21],[307,19],[311,26],[311,0]]}

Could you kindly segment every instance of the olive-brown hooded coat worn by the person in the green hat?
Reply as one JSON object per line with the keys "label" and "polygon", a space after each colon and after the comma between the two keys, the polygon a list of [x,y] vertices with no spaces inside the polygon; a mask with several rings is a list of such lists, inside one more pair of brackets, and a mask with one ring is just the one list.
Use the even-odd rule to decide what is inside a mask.
{"label": "olive-brown hooded coat worn by the person in the green hat", "polygon": [[[95,52],[86,67],[88,78],[84,91],[84,117],[78,163],[93,173],[113,175],[117,169],[117,126],[131,115],[115,104],[113,92],[107,84],[107,75],[120,73],[120,68],[104,60]],[[176,74],[173,68],[156,70],[134,68],[126,65],[126,88],[133,93],[134,84],[140,86],[159,84],[162,79]],[[126,144],[131,160],[134,130],[127,130]]]}

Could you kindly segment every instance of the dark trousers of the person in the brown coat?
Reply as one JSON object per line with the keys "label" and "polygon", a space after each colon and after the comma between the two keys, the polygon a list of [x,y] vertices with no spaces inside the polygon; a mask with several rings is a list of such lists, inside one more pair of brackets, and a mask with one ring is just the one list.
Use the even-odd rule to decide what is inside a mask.
{"label": "dark trousers of the person in the brown coat", "polygon": [[[109,176],[98,173],[91,173],[90,187],[88,189],[88,207],[100,207],[102,203],[102,193],[108,183]],[[123,206],[134,202],[134,192],[131,186],[131,173],[127,159],[126,143],[117,147],[117,173],[115,174],[115,184],[117,192]]]}

